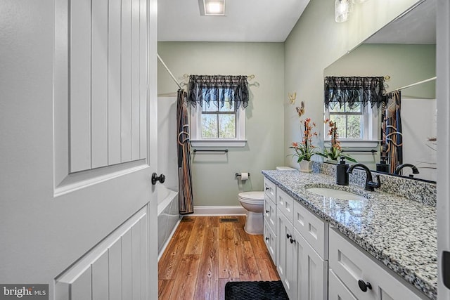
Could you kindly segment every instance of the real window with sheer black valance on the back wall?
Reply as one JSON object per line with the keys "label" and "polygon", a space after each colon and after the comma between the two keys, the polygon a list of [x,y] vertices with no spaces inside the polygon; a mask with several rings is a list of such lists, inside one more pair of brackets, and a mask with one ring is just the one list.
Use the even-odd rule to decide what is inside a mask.
{"label": "real window with sheer black valance on the back wall", "polygon": [[[195,75],[191,75],[193,76]],[[244,89],[247,94],[243,93],[236,77],[198,76],[201,79],[198,82],[201,84],[193,82],[191,77],[188,96],[192,104],[191,145],[245,146],[245,107],[248,105],[248,90]],[[245,88],[246,83],[245,80]]]}

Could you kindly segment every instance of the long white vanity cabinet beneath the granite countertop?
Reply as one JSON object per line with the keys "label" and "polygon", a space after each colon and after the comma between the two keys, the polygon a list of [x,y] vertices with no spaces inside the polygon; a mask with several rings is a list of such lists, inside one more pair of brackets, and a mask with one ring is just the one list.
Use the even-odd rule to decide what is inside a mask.
{"label": "long white vanity cabinet beneath the granite countertop", "polygon": [[264,241],[290,299],[428,299],[266,178]]}

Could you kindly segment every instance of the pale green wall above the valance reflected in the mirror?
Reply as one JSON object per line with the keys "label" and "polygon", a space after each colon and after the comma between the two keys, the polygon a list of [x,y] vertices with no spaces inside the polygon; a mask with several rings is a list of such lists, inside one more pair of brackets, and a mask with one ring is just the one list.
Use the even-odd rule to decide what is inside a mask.
{"label": "pale green wall above the valance reflected in the mirror", "polygon": [[[386,76],[387,91],[436,76],[436,45],[362,44],[328,66],[324,76]],[[403,97],[435,99],[435,81],[404,89]]]}

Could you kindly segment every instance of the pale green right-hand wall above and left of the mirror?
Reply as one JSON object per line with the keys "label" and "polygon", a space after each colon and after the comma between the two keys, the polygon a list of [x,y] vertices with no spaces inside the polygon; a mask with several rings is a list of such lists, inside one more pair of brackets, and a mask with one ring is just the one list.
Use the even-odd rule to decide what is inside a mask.
{"label": "pale green right-hand wall above and left of the mirror", "polygon": [[[305,117],[321,126],[323,121],[323,70],[348,51],[361,44],[381,27],[413,6],[417,0],[371,0],[354,6],[349,20],[335,22],[334,1],[311,0],[302,17],[285,41],[285,95],[297,92],[297,105],[305,103]],[[285,155],[292,141],[301,141],[300,123],[295,105],[286,105],[284,113]],[[319,133],[318,144],[323,141]],[[319,159],[319,157],[316,157]],[[296,162],[286,158],[285,164]]]}

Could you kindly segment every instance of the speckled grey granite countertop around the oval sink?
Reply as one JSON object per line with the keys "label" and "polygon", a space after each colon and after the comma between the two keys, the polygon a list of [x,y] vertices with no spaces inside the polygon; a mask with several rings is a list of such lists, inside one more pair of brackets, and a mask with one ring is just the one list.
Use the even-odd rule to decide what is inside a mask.
{"label": "speckled grey granite countertop around the oval sink", "polygon": [[[336,185],[334,176],[321,173],[264,170],[262,174],[428,298],[437,299],[435,207],[376,190],[369,192],[359,185]],[[330,186],[368,199],[339,200],[307,191]]]}

